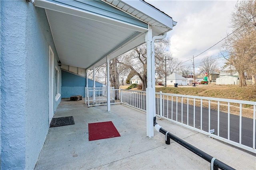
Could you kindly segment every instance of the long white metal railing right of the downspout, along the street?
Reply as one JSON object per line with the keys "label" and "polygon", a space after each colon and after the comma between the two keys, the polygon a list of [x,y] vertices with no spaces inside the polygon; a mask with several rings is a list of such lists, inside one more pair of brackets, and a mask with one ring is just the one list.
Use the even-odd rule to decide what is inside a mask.
{"label": "long white metal railing right of the downspout, along the street", "polygon": [[159,117],[254,153],[255,112],[253,101],[156,93]]}

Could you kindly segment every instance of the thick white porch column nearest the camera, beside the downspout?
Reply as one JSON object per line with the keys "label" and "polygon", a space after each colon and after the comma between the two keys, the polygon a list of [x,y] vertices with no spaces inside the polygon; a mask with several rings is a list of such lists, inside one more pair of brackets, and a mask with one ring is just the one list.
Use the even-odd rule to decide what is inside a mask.
{"label": "thick white porch column nearest the camera, beside the downspout", "polygon": [[[153,121],[153,88],[152,88],[152,60],[151,60],[151,43],[152,43],[152,28],[148,27],[148,32],[145,35],[145,42],[147,43],[147,88],[146,88],[146,121],[147,121],[147,136],[154,136],[154,121]],[[154,63],[153,63],[154,64]]]}

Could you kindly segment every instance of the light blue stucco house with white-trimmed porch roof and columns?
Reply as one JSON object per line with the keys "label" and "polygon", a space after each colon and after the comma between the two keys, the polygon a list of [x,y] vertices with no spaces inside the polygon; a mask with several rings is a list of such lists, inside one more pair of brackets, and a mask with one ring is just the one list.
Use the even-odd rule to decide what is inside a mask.
{"label": "light blue stucco house with white-trimmed porch roof and columns", "polygon": [[[64,91],[71,91],[67,96],[74,92],[65,89],[61,63],[86,73],[107,63],[109,72],[110,59],[146,42],[152,67],[154,40],[164,38],[176,25],[142,0],[1,0],[0,20],[3,170],[34,168]],[[154,103],[150,96],[155,74],[147,75],[147,136],[152,137],[155,113],[150,112]],[[107,89],[110,111],[109,74]]]}

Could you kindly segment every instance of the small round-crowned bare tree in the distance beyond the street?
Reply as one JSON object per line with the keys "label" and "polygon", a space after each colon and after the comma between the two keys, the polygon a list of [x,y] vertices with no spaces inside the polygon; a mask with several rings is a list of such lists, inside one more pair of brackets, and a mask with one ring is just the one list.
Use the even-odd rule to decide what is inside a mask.
{"label": "small round-crowned bare tree in the distance beyond the street", "polygon": [[200,70],[208,73],[208,81],[210,83],[209,75],[218,68],[218,61],[212,56],[206,56],[201,60]]}

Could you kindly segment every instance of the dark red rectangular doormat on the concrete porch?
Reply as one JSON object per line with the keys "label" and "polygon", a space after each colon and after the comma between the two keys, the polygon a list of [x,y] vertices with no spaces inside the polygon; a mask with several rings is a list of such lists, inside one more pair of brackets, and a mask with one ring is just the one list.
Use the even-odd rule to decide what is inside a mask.
{"label": "dark red rectangular doormat on the concrete porch", "polygon": [[100,123],[89,123],[89,141],[99,140],[106,138],[114,138],[120,136],[119,132],[116,130],[116,127],[109,122],[100,122]]}

